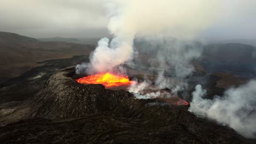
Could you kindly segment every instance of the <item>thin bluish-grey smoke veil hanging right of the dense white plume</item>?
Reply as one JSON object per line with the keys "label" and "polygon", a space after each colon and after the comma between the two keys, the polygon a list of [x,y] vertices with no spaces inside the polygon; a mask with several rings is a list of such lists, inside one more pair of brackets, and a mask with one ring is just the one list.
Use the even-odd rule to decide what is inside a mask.
{"label": "thin bluish-grey smoke veil hanging right of the dense white plume", "polygon": [[159,76],[172,71],[169,75],[178,79],[184,79],[193,72],[191,61],[200,57],[203,46],[197,41],[170,37],[147,37],[137,41],[138,52],[150,56],[148,62],[151,69],[158,69]]}

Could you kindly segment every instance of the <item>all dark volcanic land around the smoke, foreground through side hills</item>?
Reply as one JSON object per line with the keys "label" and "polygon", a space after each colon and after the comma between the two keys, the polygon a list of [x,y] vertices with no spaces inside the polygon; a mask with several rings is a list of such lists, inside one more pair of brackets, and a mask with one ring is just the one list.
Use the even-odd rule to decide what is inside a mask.
{"label": "all dark volcanic land around the smoke, foreground through side hills", "polygon": [[[81,76],[75,74],[74,65],[88,62],[93,46],[45,43],[10,33],[0,33],[0,46],[6,55],[1,72],[10,73],[2,75],[4,82],[0,83],[0,143],[256,143],[230,127],[196,117],[188,111],[189,105],[136,99],[124,90],[78,83],[75,79]],[[243,51],[238,54],[232,51],[240,48]],[[232,61],[225,53],[217,54],[222,50]],[[199,83],[207,89],[205,98],[212,99],[230,86],[247,82],[256,74],[254,51],[255,47],[242,44],[206,46],[193,63],[193,75],[186,78],[188,88],[178,97],[190,102]],[[81,55],[74,56],[77,53]],[[27,63],[30,57],[33,64]],[[155,79],[156,71],[144,65],[147,57],[141,55],[142,61],[135,61],[133,67],[123,65],[131,78],[143,80],[147,75]],[[7,59],[12,59],[11,67]],[[13,77],[11,70],[22,63],[30,67]]]}

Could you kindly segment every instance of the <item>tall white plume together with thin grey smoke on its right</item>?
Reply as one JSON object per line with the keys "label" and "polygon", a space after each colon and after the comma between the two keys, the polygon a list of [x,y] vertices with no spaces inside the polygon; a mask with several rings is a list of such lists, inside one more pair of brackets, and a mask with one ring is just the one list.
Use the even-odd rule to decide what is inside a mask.
{"label": "tall white plume together with thin grey smoke on its right", "polygon": [[[156,87],[170,88],[173,93],[184,89],[187,83],[183,79],[194,70],[190,62],[201,52],[200,45],[188,39],[193,39],[217,18],[219,1],[132,0],[112,1],[107,6],[108,29],[113,38],[98,41],[90,63],[77,65],[77,73],[106,73],[131,61],[138,53],[146,53],[150,56],[149,69],[158,73]],[[135,47],[135,39],[142,44]],[[166,71],[179,80],[166,79]],[[130,92],[139,88],[139,85],[132,86]]]}

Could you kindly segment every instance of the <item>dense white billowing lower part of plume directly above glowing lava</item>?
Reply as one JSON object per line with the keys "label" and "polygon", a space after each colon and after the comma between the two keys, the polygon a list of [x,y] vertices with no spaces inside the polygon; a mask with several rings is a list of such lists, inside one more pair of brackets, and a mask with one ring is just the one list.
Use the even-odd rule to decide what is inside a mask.
{"label": "dense white billowing lower part of plume directly above glowing lava", "polygon": [[121,43],[117,38],[112,39],[109,44],[108,38],[102,38],[90,56],[90,63],[77,65],[77,73],[84,73],[84,70],[88,74],[111,71],[117,65],[127,61],[131,57],[131,52],[130,44]]}

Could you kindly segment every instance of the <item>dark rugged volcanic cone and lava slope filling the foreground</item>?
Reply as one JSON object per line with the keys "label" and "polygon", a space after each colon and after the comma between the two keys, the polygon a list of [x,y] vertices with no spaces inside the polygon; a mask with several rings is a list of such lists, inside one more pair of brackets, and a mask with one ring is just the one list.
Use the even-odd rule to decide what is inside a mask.
{"label": "dark rugged volcanic cone and lava slope filling the foreground", "polygon": [[123,90],[75,81],[56,71],[34,97],[0,109],[1,143],[253,143],[235,130],[197,118],[188,105],[136,99]]}

